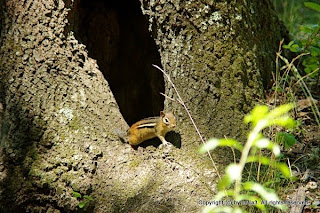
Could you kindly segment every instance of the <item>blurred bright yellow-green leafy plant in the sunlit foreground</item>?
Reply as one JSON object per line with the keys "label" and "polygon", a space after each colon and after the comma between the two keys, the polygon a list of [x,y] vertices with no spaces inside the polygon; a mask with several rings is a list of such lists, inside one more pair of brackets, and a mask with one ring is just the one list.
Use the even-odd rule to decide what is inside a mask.
{"label": "blurred bright yellow-green leafy plant in the sunlit foreground", "polygon": [[268,165],[279,170],[284,177],[291,177],[286,164],[273,161],[262,155],[256,155],[256,153],[257,150],[266,148],[271,150],[275,157],[280,156],[279,145],[265,138],[261,132],[274,125],[293,128],[296,122],[288,115],[292,108],[292,104],[286,104],[269,111],[267,106],[256,106],[244,119],[245,123],[252,125],[252,130],[244,146],[233,139],[213,138],[200,147],[200,153],[213,150],[218,146],[230,146],[241,152],[239,162],[228,165],[225,175],[218,182],[218,193],[214,197],[215,203],[211,203],[214,205],[207,206],[204,212],[244,212],[241,204],[254,205],[262,211],[267,210],[266,204],[281,210],[287,209],[273,189],[254,181],[243,181],[242,177],[245,165],[252,162]]}

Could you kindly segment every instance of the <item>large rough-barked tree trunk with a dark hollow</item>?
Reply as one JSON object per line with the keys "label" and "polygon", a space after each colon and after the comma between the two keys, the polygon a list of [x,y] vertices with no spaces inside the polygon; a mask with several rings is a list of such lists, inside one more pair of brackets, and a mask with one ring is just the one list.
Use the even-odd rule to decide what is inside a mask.
{"label": "large rough-barked tree trunk with a dark hollow", "polygon": [[[196,212],[213,197],[212,162],[151,64],[206,138],[240,137],[273,69],[277,19],[268,0],[142,11],[149,22],[138,0],[1,0],[0,212],[76,212],[84,195],[88,212]],[[115,135],[164,106],[178,118],[171,148]]]}

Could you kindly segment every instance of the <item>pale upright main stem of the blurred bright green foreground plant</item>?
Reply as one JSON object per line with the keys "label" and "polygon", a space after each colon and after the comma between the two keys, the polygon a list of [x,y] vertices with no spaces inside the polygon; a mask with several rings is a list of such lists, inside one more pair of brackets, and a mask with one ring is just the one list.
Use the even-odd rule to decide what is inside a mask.
{"label": "pale upright main stem of the blurred bright green foreground plant", "polygon": [[236,199],[240,195],[242,172],[243,172],[244,166],[246,164],[250,149],[251,149],[254,141],[258,138],[259,132],[261,132],[262,129],[266,127],[266,125],[267,125],[267,120],[265,120],[265,119],[262,119],[257,123],[257,125],[254,127],[254,129],[250,132],[247,143],[245,144],[245,146],[242,150],[241,158],[240,158],[240,161],[238,164],[238,166],[240,168],[240,172],[239,172],[240,176],[236,180],[235,187],[234,187],[234,194],[235,194]]}

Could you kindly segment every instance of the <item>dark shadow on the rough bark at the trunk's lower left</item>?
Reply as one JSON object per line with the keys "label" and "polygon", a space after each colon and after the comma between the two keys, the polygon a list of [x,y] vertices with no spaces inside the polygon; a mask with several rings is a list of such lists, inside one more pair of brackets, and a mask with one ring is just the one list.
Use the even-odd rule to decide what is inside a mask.
{"label": "dark shadow on the rough bark at the trunk's lower left", "polygon": [[35,125],[37,121],[26,103],[9,102],[1,118],[0,200],[5,205],[1,205],[0,212],[25,212],[27,206],[41,206],[40,194],[49,196],[48,185],[39,188],[25,177],[37,156],[51,145],[40,143],[43,126]]}

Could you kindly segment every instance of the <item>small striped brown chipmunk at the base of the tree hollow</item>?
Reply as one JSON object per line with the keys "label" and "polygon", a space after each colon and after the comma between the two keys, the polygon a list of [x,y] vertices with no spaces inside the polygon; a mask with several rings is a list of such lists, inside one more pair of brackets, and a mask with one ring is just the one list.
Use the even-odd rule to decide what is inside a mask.
{"label": "small striped brown chipmunk at the base of the tree hollow", "polygon": [[[172,112],[160,112],[160,117],[142,119],[134,123],[127,131],[128,141],[131,146],[136,146],[151,138],[158,137],[164,145],[168,142],[164,138],[176,126],[176,118]],[[122,139],[124,137],[117,133]],[[124,139],[125,140],[125,139]]]}

